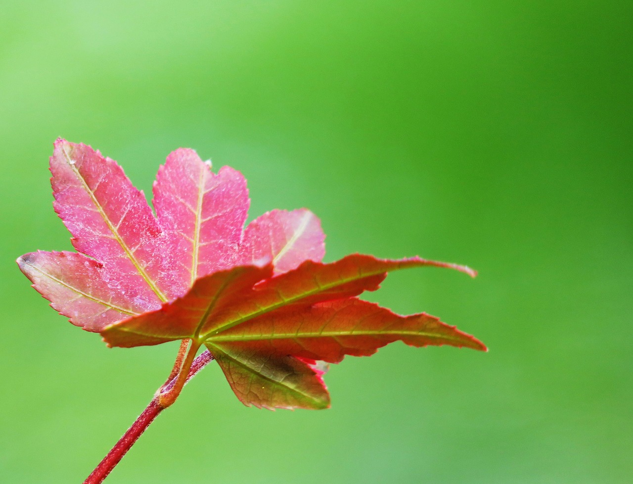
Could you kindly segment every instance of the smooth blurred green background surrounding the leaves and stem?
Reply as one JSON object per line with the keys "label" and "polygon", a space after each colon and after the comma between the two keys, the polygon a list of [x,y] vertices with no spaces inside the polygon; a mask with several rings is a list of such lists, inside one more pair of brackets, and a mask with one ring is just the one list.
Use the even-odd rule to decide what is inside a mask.
{"label": "smooth blurred green background surrounding the leaves and stem", "polygon": [[397,343],[330,369],[328,411],[242,406],[211,364],[106,482],[630,483],[633,3],[45,1],[0,8],[0,481],[82,481],[176,343],[108,350],[15,258],[70,250],[54,139],[148,193],[179,146],[309,207],[326,260],[389,276],[487,354]]}

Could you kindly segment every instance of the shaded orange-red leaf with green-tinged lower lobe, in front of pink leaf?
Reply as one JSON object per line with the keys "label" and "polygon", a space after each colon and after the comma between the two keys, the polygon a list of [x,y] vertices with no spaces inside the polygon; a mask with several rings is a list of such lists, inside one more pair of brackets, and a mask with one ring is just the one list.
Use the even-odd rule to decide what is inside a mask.
{"label": "shaded orange-red leaf with green-tinged lower lobe, in front of pink leaf", "polygon": [[436,317],[400,316],[354,297],[376,290],[386,271],[424,265],[444,264],[356,254],[332,264],[306,261],[277,277],[270,277],[271,264],[235,267],[198,279],[182,298],[101,334],[123,347],[192,338],[216,357],[245,404],[324,408],[329,397],[310,365],[315,360],[372,355],[398,340],[416,347],[486,349]]}

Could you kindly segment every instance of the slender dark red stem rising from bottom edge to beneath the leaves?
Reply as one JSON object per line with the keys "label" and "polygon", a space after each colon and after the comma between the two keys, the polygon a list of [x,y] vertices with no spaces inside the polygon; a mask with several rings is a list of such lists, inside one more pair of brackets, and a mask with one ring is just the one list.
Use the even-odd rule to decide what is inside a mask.
{"label": "slender dark red stem rising from bottom edge to beneath the leaves", "polygon": [[[187,378],[185,379],[185,383],[187,383],[193,376],[198,373],[201,369],[206,366],[208,362],[213,360],[213,356],[211,353],[207,351],[201,353],[191,364],[191,369],[189,369],[189,373],[187,373]],[[163,385],[161,388],[161,392],[165,392],[171,390],[173,386],[176,384],[178,377],[172,378],[172,381]],[[160,393],[156,395],[149,402],[147,408],[142,412],[141,415],[136,419],[136,421],[132,424],[130,428],[128,428],[127,432],[123,434],[123,436],[116,442],[115,446],[108,452],[103,458],[103,461],[99,462],[99,465],[92,471],[92,473],[88,476],[88,478],[84,481],[84,484],[100,484],[103,480],[110,474],[112,469],[115,468],[116,464],[118,464],[121,459],[123,459],[123,455],[130,450],[130,447],[134,445],[134,442],[141,436],[141,434],[146,430],[146,428],[151,424],[156,416],[162,412],[165,407],[161,406],[159,403]]]}

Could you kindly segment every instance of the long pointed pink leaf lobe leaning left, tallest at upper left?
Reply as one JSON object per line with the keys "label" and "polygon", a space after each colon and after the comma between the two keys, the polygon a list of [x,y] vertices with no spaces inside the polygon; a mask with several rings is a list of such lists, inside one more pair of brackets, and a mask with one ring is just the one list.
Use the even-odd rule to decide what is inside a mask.
{"label": "long pointed pink leaf lobe leaning left, tallest at upper left", "polygon": [[121,167],[85,144],[58,140],[51,157],[53,206],[72,243],[118,275],[128,300],[168,300],[166,240],[141,191]]}

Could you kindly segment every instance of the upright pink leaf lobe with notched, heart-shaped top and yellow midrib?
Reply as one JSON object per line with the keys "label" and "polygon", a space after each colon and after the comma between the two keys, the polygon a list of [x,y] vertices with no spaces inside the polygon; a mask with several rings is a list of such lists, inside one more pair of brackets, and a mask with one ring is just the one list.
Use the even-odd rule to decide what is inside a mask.
{"label": "upright pink leaf lobe with notched, heart-shaped top and yellow midrib", "polygon": [[214,174],[184,148],[167,157],[154,182],[154,207],[172,242],[168,265],[180,269],[176,293],[235,265],[249,203],[246,180],[234,169]]}

